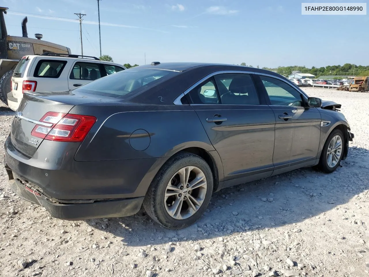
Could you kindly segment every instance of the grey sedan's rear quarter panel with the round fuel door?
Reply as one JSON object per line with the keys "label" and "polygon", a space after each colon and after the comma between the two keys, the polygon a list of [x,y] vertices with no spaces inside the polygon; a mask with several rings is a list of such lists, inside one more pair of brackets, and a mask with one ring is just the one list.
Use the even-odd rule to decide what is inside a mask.
{"label": "grey sedan's rear quarter panel with the round fuel door", "polygon": [[95,124],[75,160],[170,157],[187,147],[214,151],[196,112],[190,106],[180,109],[168,106],[161,110],[111,114]]}

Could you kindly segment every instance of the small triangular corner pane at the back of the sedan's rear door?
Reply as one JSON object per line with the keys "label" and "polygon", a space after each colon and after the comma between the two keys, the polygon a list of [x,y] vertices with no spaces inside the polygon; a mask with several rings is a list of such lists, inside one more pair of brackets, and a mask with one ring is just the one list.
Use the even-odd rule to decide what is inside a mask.
{"label": "small triangular corner pane at the back of the sedan's rear door", "polygon": [[219,98],[213,78],[207,79],[189,92],[192,104],[218,104]]}

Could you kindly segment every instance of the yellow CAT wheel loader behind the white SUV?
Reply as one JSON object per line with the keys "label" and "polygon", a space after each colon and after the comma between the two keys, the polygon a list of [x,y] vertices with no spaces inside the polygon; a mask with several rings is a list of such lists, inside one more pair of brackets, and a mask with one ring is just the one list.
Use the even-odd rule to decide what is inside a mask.
{"label": "yellow CAT wheel loader behind the white SUV", "polygon": [[68,47],[41,40],[42,34],[28,38],[27,17],[22,20],[22,37],[8,35],[4,20],[7,9],[0,7],[0,99],[5,104],[8,104],[8,93],[11,93],[13,70],[22,57],[45,52],[72,54]]}

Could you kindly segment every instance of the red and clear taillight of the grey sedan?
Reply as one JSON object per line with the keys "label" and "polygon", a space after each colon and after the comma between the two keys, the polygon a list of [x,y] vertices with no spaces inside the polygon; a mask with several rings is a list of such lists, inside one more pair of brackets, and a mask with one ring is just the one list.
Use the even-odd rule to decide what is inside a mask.
{"label": "red and clear taillight of the grey sedan", "polygon": [[95,124],[96,117],[48,112],[40,122],[52,125],[37,124],[31,132],[32,136],[45,140],[82,142]]}

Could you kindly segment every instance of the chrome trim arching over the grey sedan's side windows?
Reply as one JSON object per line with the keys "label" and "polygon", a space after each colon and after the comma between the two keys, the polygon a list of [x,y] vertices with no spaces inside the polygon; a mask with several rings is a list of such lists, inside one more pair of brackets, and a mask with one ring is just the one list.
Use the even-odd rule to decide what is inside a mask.
{"label": "chrome trim arching over the grey sedan's side windows", "polygon": [[[241,73],[241,74],[256,74],[256,75],[263,75],[263,76],[267,76],[267,77],[271,77],[271,78],[275,78],[275,79],[279,79],[280,81],[285,82],[287,85],[291,86],[292,88],[296,89],[298,92],[300,92],[301,95],[303,95],[303,97],[305,98],[304,100],[307,101],[308,96],[305,94],[305,92],[303,92],[299,87],[295,88],[294,86],[292,86],[288,81],[278,77],[278,76],[274,76],[271,74],[267,74],[267,73],[262,73],[262,72],[255,72],[255,71],[243,71],[243,70],[220,70],[220,71],[215,71],[212,72],[208,75],[206,75],[204,78],[201,78],[199,81],[197,81],[196,83],[194,83],[192,86],[190,86],[188,89],[186,89],[184,92],[182,92],[179,96],[177,96],[177,98],[173,101],[174,105],[184,105],[181,102],[181,98],[186,95],[187,93],[189,93],[191,90],[193,90],[194,88],[196,88],[198,85],[200,85],[202,82],[206,81],[207,79],[215,76],[215,75],[219,75],[219,74],[226,74],[226,73]],[[194,105],[194,104],[192,104]],[[211,104],[197,104],[197,105],[211,105]],[[225,104],[213,104],[213,105],[225,105]],[[229,106],[229,105],[226,105]],[[244,105],[245,106],[245,105]],[[278,106],[278,105],[271,105],[271,106]],[[280,106],[280,107],[284,107]]]}

